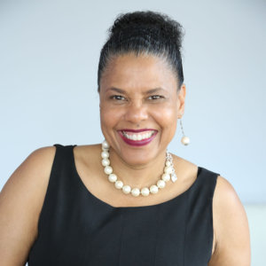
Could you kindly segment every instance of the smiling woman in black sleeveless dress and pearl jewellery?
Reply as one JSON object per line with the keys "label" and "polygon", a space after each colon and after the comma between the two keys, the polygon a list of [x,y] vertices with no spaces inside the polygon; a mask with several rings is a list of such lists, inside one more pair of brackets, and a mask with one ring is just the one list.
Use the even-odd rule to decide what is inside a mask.
{"label": "smiling woman in black sleeveless dress and pearl jewellery", "polygon": [[231,184],[167,152],[184,114],[181,39],[158,12],[114,21],[98,65],[106,140],[40,148],[14,171],[1,265],[250,265]]}

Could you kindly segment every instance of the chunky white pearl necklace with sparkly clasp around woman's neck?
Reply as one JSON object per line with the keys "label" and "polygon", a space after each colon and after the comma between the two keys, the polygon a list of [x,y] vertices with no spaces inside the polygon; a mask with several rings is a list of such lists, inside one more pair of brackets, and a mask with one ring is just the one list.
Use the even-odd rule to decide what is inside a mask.
{"label": "chunky white pearl necklace with sparkly clasp around woman's neck", "polygon": [[108,176],[108,180],[114,184],[115,188],[117,188],[118,190],[121,189],[121,191],[125,194],[131,193],[135,197],[139,196],[140,194],[143,196],[148,196],[150,192],[152,194],[156,194],[157,192],[159,192],[159,189],[164,188],[170,178],[173,183],[176,182],[177,176],[173,164],[173,158],[172,155],[167,152],[164,173],[158,180],[157,184],[151,185],[150,188],[144,187],[142,189],[139,189],[135,187],[131,189],[128,184],[123,184],[121,180],[118,180],[117,176],[113,174],[113,168],[111,167],[109,160],[109,147],[109,144],[105,140],[102,143],[102,165],[105,168],[105,173]]}

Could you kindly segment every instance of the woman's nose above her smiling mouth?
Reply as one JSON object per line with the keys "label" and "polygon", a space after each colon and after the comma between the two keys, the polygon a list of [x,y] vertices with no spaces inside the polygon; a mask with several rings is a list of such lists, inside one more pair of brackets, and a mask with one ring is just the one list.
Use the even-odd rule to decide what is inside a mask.
{"label": "woman's nose above her smiling mouth", "polygon": [[148,118],[147,107],[141,100],[132,101],[125,113],[125,120],[132,123],[139,123],[145,121]]}

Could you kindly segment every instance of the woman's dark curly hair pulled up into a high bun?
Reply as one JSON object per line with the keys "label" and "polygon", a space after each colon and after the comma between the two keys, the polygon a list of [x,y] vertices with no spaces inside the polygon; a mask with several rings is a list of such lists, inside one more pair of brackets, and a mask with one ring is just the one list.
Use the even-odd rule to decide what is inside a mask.
{"label": "woman's dark curly hair pulled up into a high bun", "polygon": [[98,63],[98,92],[100,79],[113,56],[134,52],[152,54],[167,59],[177,75],[178,89],[184,82],[181,43],[182,26],[160,12],[128,12],[118,15],[103,46]]}

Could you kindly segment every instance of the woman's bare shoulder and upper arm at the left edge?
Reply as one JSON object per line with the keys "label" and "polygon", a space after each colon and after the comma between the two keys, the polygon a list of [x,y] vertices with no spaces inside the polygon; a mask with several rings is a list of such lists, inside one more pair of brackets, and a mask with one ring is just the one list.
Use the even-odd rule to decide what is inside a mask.
{"label": "woman's bare shoulder and upper arm at the left edge", "polygon": [[[0,193],[0,257],[22,265],[37,236],[56,147],[36,149],[14,170]],[[24,264],[23,264],[24,265]]]}

